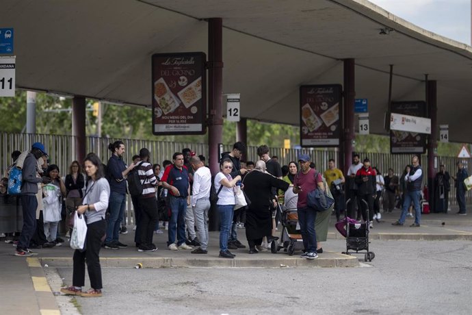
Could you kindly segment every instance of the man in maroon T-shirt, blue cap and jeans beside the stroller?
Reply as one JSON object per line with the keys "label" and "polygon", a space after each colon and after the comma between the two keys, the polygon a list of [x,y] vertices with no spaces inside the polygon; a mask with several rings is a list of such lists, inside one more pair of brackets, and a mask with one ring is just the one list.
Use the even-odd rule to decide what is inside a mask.
{"label": "man in maroon T-shirt, blue cap and jeans beside the stroller", "polygon": [[322,175],[310,168],[310,155],[300,154],[298,163],[300,164],[300,172],[293,179],[293,192],[298,194],[298,223],[300,223],[304,246],[304,253],[301,257],[314,260],[318,257],[315,233],[316,211],[308,206],[306,199],[309,192],[315,188],[319,187],[324,190],[324,184]]}

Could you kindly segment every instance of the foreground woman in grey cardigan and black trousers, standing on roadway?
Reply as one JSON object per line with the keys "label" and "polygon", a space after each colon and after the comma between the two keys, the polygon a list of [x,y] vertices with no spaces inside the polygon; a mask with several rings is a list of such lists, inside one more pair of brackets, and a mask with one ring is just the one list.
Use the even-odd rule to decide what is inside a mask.
{"label": "foreground woman in grey cardigan and black trousers, standing on roadway", "polygon": [[[77,214],[84,215],[87,220],[86,243],[83,249],[76,249],[74,252],[73,285],[62,288],[61,292],[81,297],[101,297],[103,285],[99,253],[105,237],[105,212],[108,207],[110,188],[105,179],[101,160],[94,153],[87,155],[85,169],[86,192],[82,205],[77,207]],[[86,262],[92,288],[83,292]]]}

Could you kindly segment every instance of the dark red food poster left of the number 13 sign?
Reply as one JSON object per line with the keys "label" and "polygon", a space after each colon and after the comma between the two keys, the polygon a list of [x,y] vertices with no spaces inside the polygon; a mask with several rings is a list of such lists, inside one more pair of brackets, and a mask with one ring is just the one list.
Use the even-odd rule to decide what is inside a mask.
{"label": "dark red food poster left of the number 13 sign", "polygon": [[300,86],[302,147],[335,147],[341,138],[342,86]]}

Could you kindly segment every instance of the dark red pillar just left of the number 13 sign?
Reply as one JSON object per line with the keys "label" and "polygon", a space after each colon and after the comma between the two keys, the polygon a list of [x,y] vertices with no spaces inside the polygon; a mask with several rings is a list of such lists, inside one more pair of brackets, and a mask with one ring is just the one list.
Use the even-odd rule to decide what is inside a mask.
{"label": "dark red pillar just left of the number 13 sign", "polygon": [[[352,142],[356,135],[354,134],[354,97],[355,91],[355,72],[354,59],[348,58],[344,62],[344,106],[343,106],[343,120],[344,120],[344,135],[343,143],[340,152],[341,162],[339,167],[342,167],[343,173],[347,174],[349,166],[352,163]],[[343,163],[343,164],[341,164]]]}

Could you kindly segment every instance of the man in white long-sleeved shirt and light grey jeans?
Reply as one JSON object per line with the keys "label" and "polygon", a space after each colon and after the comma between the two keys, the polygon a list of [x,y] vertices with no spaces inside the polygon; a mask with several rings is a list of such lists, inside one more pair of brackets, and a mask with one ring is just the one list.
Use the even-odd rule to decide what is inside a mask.
{"label": "man in white long-sleeved shirt and light grey jeans", "polygon": [[189,163],[194,169],[191,205],[198,229],[198,240],[200,240],[200,247],[194,249],[192,254],[206,254],[208,253],[208,211],[210,210],[211,173],[210,169],[205,167],[205,164],[197,156],[191,157]]}

